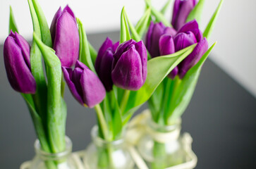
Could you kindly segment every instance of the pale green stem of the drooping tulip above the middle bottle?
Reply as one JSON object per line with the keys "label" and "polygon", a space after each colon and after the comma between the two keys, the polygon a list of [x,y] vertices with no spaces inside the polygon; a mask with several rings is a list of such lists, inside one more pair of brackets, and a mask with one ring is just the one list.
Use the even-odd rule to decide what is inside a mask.
{"label": "pale green stem of the drooping tulip above the middle bottle", "polygon": [[95,106],[95,111],[97,113],[97,118],[99,120],[99,125],[100,125],[99,127],[101,127],[102,129],[103,137],[104,139],[108,140],[108,137],[109,137],[108,126],[106,124],[106,120],[104,118],[102,108],[99,106],[99,104]]}

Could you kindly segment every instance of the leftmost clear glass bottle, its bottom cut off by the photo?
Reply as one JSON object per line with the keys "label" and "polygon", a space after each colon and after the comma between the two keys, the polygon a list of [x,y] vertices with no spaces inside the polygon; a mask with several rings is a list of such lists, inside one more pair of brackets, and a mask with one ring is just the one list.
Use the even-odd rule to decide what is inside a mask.
{"label": "leftmost clear glass bottle, its bottom cut off by the photo", "polygon": [[41,149],[39,140],[35,141],[35,158],[31,161],[30,169],[80,169],[78,162],[73,156],[71,139],[66,137],[66,150],[50,154]]}

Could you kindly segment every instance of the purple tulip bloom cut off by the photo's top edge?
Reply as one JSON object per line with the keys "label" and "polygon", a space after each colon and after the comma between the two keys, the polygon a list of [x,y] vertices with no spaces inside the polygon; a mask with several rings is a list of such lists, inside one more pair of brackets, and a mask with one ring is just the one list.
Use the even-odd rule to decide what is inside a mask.
{"label": "purple tulip bloom cut off by the photo's top edge", "polygon": [[179,30],[185,24],[190,12],[195,8],[198,0],[176,0],[173,6],[171,25]]}

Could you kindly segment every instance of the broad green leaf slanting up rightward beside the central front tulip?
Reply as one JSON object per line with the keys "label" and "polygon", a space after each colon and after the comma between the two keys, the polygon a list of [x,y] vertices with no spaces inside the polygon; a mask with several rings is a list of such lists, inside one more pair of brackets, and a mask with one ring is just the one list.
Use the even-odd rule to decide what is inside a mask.
{"label": "broad green leaf slanting up rightward beside the central front tulip", "polygon": [[169,75],[171,70],[173,70],[178,63],[181,63],[181,61],[183,61],[183,59],[193,51],[195,45],[196,44],[188,46],[175,54],[152,58],[147,62],[147,80],[138,91],[130,92],[130,97],[126,107],[126,115],[124,115],[125,121],[128,121],[127,118],[131,117],[139,106],[150,99],[154,90],[157,89],[164,78]]}

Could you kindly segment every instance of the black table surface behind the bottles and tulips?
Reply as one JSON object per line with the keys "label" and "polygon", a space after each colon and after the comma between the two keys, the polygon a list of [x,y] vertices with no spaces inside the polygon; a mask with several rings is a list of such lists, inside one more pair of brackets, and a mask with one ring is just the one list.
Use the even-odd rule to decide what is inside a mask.
{"label": "black table surface behind the bottles and tulips", "polygon": [[[88,35],[99,49],[118,32]],[[95,125],[93,110],[80,106],[66,89],[68,118],[66,134],[73,151],[90,143]],[[35,155],[36,136],[28,108],[20,94],[8,84],[0,46],[0,168],[19,168]],[[147,108],[145,104],[139,111]],[[205,63],[190,105],[182,116],[183,132],[193,137],[197,169],[256,168],[256,99],[211,60]]]}

